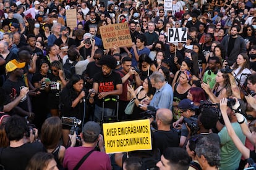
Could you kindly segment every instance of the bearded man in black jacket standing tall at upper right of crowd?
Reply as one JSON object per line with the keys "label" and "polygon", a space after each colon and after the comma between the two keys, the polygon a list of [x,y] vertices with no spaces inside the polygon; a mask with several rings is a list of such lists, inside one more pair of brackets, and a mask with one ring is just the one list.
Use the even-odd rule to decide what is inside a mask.
{"label": "bearded man in black jacket standing tall at upper right of crowd", "polygon": [[224,47],[224,51],[228,56],[228,65],[233,65],[236,62],[237,55],[246,53],[246,46],[244,38],[238,35],[240,27],[237,25],[231,26],[230,35],[227,35],[221,41],[221,46]]}

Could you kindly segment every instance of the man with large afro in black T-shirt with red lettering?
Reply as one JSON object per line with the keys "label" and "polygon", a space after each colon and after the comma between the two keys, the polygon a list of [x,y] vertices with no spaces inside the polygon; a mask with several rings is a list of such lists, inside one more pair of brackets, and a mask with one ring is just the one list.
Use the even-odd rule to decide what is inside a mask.
{"label": "man with large afro in black T-shirt with red lettering", "polygon": [[[102,71],[94,76],[93,91],[95,91],[95,121],[100,122],[101,115],[114,116],[116,101],[113,95],[122,94],[122,79],[116,73],[116,59],[111,55],[105,55],[99,61]],[[103,110],[103,101],[105,102]],[[108,101],[108,102],[107,102]]]}

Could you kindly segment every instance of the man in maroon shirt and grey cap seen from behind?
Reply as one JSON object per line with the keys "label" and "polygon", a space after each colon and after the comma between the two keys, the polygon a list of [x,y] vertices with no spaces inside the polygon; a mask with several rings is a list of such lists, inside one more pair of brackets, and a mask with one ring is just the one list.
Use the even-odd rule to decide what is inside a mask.
{"label": "man in maroon shirt and grey cap seen from behind", "polygon": [[[88,121],[83,126],[80,134],[82,140],[81,147],[67,148],[63,161],[63,168],[67,169],[111,169],[109,156],[104,150],[103,136],[100,134],[100,125],[93,121]],[[96,145],[100,147],[101,152],[95,151]],[[87,156],[85,161],[82,158]],[[80,166],[78,166],[79,162]]]}

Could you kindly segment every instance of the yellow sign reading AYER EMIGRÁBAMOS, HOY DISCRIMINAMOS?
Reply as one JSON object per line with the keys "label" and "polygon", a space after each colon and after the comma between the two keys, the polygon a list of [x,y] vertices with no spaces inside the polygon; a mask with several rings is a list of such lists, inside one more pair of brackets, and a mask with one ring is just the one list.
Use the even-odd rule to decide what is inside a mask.
{"label": "yellow sign reading AYER EMIGR\u00c1BAMOS, HOY DISCRIMINAMOS", "polygon": [[103,123],[106,153],[151,150],[150,120]]}

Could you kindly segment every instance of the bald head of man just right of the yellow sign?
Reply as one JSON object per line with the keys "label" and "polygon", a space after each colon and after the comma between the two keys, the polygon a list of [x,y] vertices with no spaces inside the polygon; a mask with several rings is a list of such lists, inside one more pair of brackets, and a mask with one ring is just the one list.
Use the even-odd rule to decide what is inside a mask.
{"label": "bald head of man just right of the yellow sign", "polygon": [[168,108],[160,108],[156,111],[156,118],[160,119],[163,125],[169,126],[173,120],[173,112]]}

